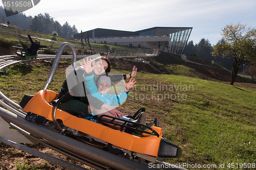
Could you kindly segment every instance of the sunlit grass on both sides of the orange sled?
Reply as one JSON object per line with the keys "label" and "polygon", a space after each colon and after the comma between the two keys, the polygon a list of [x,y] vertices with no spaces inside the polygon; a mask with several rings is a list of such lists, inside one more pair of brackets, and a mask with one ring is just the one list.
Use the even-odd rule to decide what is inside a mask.
{"label": "sunlit grass on both sides of the orange sled", "polygon": [[[59,90],[66,66],[62,63],[57,69],[49,89]],[[44,88],[50,67],[39,63],[32,68],[11,66],[10,75],[1,74],[0,90],[19,103],[24,94]],[[112,72],[130,73],[116,67]],[[233,169],[228,168],[229,163],[238,163],[237,169],[241,169],[240,163],[255,165],[255,88],[143,71],[138,72],[136,81],[136,88],[130,90],[129,98],[118,110],[133,114],[145,107],[147,122],[159,117],[163,135],[183,150],[180,159],[165,161],[212,166],[202,169],[223,169],[220,164]],[[184,168],[194,169],[187,166]]]}

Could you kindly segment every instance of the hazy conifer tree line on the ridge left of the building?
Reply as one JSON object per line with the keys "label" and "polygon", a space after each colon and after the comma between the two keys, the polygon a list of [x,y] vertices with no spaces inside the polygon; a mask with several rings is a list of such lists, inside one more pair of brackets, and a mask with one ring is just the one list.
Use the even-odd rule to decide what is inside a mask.
{"label": "hazy conifer tree line on the ridge left of the building", "polygon": [[62,26],[57,20],[54,20],[49,13],[38,14],[34,17],[26,16],[24,13],[6,17],[5,9],[0,6],[0,19],[1,23],[10,22],[10,26],[19,29],[32,30],[40,33],[53,34],[54,31],[60,37],[73,38],[74,34],[78,31],[76,26],[70,26],[66,21]]}

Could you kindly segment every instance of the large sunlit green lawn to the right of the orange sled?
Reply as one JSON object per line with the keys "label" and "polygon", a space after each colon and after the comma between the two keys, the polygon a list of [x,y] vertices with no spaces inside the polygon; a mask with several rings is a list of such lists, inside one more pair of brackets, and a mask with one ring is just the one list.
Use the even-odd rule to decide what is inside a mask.
{"label": "large sunlit green lawn to the right of the orange sled", "polygon": [[[165,137],[183,149],[181,159],[168,159],[168,162],[218,166],[232,162],[256,163],[255,89],[144,72],[139,72],[136,80],[138,87],[131,92],[134,103],[160,117],[168,125],[164,127]],[[160,89],[160,84],[168,88]],[[154,85],[157,85],[155,89],[150,89]],[[137,93],[137,100],[133,92]],[[138,97],[152,92],[157,99]],[[176,97],[183,94],[185,100],[173,100],[167,95],[162,98],[167,93]]]}

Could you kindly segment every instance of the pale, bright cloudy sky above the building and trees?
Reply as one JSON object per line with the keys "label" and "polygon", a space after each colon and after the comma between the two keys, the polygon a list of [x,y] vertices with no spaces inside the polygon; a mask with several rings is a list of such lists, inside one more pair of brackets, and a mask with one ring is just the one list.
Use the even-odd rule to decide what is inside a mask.
{"label": "pale, bright cloudy sky above the building and trees", "polygon": [[[255,0],[34,0],[24,12],[34,17],[49,13],[61,25],[68,21],[78,32],[96,28],[139,31],[153,27],[193,27],[188,41],[202,38],[212,45],[226,25],[246,24],[256,28]],[[3,6],[3,3],[0,2]],[[7,18],[8,19],[8,18]]]}

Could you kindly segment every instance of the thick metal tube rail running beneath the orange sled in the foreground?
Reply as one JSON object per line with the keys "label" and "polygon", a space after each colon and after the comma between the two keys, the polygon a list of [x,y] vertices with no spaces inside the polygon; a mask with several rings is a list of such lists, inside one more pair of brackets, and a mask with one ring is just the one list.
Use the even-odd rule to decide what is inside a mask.
{"label": "thick metal tube rail running beneath the orange sled in the foreground", "polygon": [[109,152],[100,150],[81,141],[69,138],[65,135],[61,135],[55,131],[46,129],[42,126],[38,126],[3,108],[0,108],[0,116],[4,120],[7,120],[7,122],[11,122],[15,126],[19,127],[20,129],[23,129],[24,131],[29,132],[34,136],[38,136],[49,142],[55,143],[59,147],[66,148],[77,155],[81,155],[82,157],[90,158],[94,162],[99,162],[100,164],[104,164],[109,167],[123,170],[150,169],[149,167],[143,164],[131,161],[126,158],[119,157],[117,155],[113,155]]}

